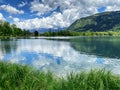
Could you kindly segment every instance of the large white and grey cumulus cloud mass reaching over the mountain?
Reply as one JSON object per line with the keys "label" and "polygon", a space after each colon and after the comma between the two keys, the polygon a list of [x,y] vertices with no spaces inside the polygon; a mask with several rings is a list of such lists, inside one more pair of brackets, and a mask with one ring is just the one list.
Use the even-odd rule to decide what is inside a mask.
{"label": "large white and grey cumulus cloud mass reaching over the mountain", "polygon": [[[104,11],[120,10],[120,0],[34,0],[30,5],[31,13],[37,16],[54,12],[48,17],[33,18],[16,23],[20,28],[64,28],[81,17],[99,13],[98,9],[101,7],[105,7]],[[57,7],[60,7],[60,11],[56,10]]]}

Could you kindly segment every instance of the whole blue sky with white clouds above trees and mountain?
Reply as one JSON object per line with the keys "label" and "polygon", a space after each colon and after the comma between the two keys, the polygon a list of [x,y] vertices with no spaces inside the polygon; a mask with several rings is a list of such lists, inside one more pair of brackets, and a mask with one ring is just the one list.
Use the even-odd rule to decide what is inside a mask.
{"label": "whole blue sky with white clouds above trees and mountain", "polygon": [[120,0],[0,0],[0,19],[22,29],[58,29],[79,18],[119,8]]}

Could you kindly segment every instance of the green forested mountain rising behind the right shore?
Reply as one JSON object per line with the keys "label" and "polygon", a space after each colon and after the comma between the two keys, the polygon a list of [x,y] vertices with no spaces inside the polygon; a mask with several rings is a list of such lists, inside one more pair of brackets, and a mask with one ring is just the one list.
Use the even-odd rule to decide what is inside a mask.
{"label": "green forested mountain rising behind the right shore", "polygon": [[120,11],[104,12],[76,20],[67,30],[120,31]]}

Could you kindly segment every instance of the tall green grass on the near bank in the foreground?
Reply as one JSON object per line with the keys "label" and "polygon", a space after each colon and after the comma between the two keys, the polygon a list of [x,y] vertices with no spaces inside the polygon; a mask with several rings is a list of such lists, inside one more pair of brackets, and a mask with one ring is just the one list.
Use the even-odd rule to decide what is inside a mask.
{"label": "tall green grass on the near bank in the foreground", "polygon": [[60,78],[29,66],[0,62],[0,90],[120,90],[120,76],[102,69]]}

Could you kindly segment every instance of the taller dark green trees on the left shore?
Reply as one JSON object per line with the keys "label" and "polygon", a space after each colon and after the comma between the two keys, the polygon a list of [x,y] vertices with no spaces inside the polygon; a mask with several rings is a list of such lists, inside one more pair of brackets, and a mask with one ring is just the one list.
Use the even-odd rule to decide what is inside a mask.
{"label": "taller dark green trees on the left shore", "polygon": [[30,34],[29,30],[22,30],[15,24],[10,25],[9,22],[0,20],[0,37],[28,36]]}

